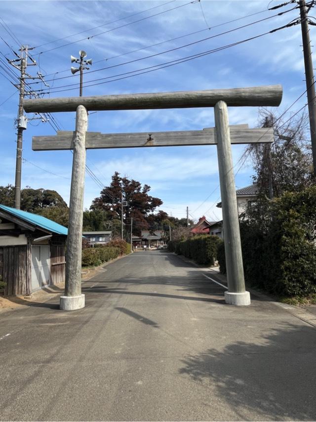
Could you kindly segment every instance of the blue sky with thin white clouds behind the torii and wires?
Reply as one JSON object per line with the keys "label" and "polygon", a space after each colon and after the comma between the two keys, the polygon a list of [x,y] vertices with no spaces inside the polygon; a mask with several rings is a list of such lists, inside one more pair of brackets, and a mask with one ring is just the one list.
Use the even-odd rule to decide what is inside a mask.
{"label": "blue sky with thin white clouds behind the torii and wires", "polygon": [[[78,57],[80,49],[87,51],[87,58],[92,58],[94,61],[90,71],[119,65],[111,69],[93,72],[90,75],[86,71],[84,75],[86,82],[111,78],[106,79],[107,83],[105,84],[84,87],[83,95],[282,84],[283,99],[277,110],[282,113],[306,89],[299,25],[165,69],[112,81],[118,78],[113,77],[115,75],[244,40],[285,25],[299,17],[297,9],[282,16],[272,17],[280,11],[289,10],[295,6],[295,4],[289,4],[281,9],[267,10],[269,3],[271,7],[280,3],[277,1],[202,0],[189,4],[187,4],[188,1],[165,3],[166,1],[148,0],[1,1],[0,16],[3,20],[1,22],[5,22],[19,42],[36,47],[31,53],[39,63],[40,69],[38,66],[30,66],[28,72],[35,75],[40,70],[43,75],[47,75],[46,80],[54,78],[54,81],[49,82],[50,88],[45,88],[42,84],[33,85],[34,89],[45,88],[44,92],[50,89],[51,97],[79,95],[77,85],[75,85],[75,90],[63,92],[54,92],[54,90],[66,89],[58,88],[59,86],[79,83],[79,75],[72,76],[70,72],[70,55]],[[181,5],[183,6],[178,7]],[[128,17],[155,6],[159,7]],[[177,8],[174,10],[125,25],[175,7]],[[227,21],[254,13],[257,14],[225,24]],[[271,18],[228,34],[197,42],[191,46],[162,53],[267,17]],[[118,19],[120,20],[115,23],[107,24],[107,22]],[[115,29],[121,25],[125,26]],[[212,28],[215,25],[217,27]],[[97,26],[101,27],[91,29]],[[108,32],[97,35],[105,31]],[[201,32],[164,42],[196,31]],[[79,32],[81,34],[71,36]],[[311,27],[312,41],[314,33],[315,27]],[[93,35],[94,37],[91,38]],[[17,42],[5,31],[3,25],[0,26],[0,36],[14,50],[19,48]],[[87,37],[90,39],[87,40]],[[60,38],[65,39],[54,41]],[[84,38],[85,40],[77,42]],[[73,43],[63,46],[70,42]],[[159,42],[163,43],[149,47]],[[47,44],[42,45],[44,43]],[[0,45],[0,51],[6,57],[14,58],[14,54],[2,40],[0,40]],[[46,51],[52,48],[54,49]],[[136,49],[138,51],[131,52]],[[134,63],[123,64],[156,53],[162,54]],[[118,55],[120,56],[113,58]],[[97,61],[98,63],[96,63]],[[18,72],[14,69],[13,71]],[[6,75],[3,70],[0,72]],[[56,72],[59,73],[56,74]],[[58,79],[65,76],[70,78]],[[2,104],[16,91],[16,88],[2,75],[0,75],[0,80],[0,104]],[[45,97],[47,96],[48,94],[45,95]],[[304,95],[292,107],[291,112],[297,111],[305,102]],[[17,115],[17,104],[18,94],[16,92],[0,106],[1,185],[7,183],[14,185],[16,157],[14,119]],[[229,113],[231,124],[247,123],[249,127],[258,126],[258,108],[231,107]],[[74,130],[75,113],[55,113],[53,117],[63,130]],[[142,131],[152,133],[160,130],[194,130],[212,126],[214,126],[212,108],[104,111],[89,115],[88,130],[104,133]],[[22,187],[28,185],[32,188],[55,189],[68,202],[72,167],[71,153],[69,151],[32,151],[32,136],[54,133],[54,129],[48,123],[41,123],[40,120],[28,123],[28,128],[24,132],[23,157],[27,161],[23,163],[22,168]],[[233,146],[236,171],[239,169],[238,160],[242,156],[244,148],[243,145]],[[201,215],[205,215],[210,220],[221,218],[221,212],[215,206],[220,200],[215,146],[88,150],[87,165],[104,185],[109,185],[114,171],[149,184],[152,187],[151,194],[163,201],[161,209],[173,216],[184,217],[188,206],[191,217],[194,219]],[[252,174],[252,163],[247,160],[237,172],[237,187],[250,184]],[[99,193],[98,184],[89,175],[86,175],[85,208],[89,208],[92,199]]]}

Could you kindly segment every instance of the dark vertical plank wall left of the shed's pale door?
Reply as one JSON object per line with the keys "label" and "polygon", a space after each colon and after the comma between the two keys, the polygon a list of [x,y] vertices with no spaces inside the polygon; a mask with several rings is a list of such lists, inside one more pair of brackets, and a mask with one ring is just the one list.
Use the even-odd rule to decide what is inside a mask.
{"label": "dark vertical plank wall left of the shed's pale door", "polygon": [[8,246],[3,248],[3,281],[6,282],[4,295],[27,294],[27,247]]}

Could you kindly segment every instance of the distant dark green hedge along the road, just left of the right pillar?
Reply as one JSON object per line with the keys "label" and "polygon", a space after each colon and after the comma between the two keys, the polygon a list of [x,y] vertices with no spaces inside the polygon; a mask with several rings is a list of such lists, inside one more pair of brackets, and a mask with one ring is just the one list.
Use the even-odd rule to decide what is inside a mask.
{"label": "distant dark green hedge along the road, just left of the right pillar", "polygon": [[217,246],[222,241],[218,236],[193,236],[187,240],[170,241],[170,252],[191,258],[198,264],[214,265],[217,259]]}

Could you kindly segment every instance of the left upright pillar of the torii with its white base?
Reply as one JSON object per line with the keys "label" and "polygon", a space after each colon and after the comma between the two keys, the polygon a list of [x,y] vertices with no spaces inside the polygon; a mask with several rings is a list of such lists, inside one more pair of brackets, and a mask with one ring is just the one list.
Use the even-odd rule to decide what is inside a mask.
{"label": "left upright pillar of the torii with its white base", "polygon": [[73,140],[74,155],[69,203],[65,295],[60,298],[60,308],[65,310],[84,307],[84,295],[81,294],[81,255],[86,157],[85,132],[87,127],[87,110],[79,105],[76,114],[76,132]]}

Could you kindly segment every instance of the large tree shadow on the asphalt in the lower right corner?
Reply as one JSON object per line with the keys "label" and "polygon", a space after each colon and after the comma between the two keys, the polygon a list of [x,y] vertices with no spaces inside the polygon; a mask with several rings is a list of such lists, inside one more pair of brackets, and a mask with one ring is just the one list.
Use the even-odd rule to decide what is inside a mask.
{"label": "large tree shadow on the asphalt in the lower right corner", "polygon": [[256,340],[185,358],[179,372],[215,385],[240,420],[254,411],[263,420],[315,421],[315,328],[284,324]]}

